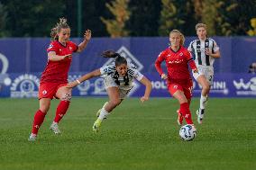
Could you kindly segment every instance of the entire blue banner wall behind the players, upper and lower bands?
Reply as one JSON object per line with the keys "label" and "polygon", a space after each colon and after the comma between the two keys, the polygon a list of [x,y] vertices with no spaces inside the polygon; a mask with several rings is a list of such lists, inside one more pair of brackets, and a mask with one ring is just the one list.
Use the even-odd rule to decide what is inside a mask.
{"label": "entire blue banner wall behind the players, upper and lower bands", "polygon": [[[185,46],[196,37],[187,37]],[[256,62],[256,38],[214,37],[220,47],[221,58],[215,59],[213,97],[255,97],[256,77],[248,74],[249,66]],[[72,39],[77,44],[81,39]],[[14,46],[14,44],[19,44]],[[41,72],[47,63],[46,49],[49,38],[0,39],[0,97],[36,97]],[[69,79],[73,80],[113,61],[102,58],[106,49],[114,49],[151,79],[153,97],[169,97],[164,81],[160,79],[154,61],[160,51],[168,48],[168,37],[155,38],[93,38],[82,53],[72,56]],[[12,48],[10,48],[12,47]],[[165,68],[165,65],[162,65]],[[194,96],[201,88],[194,82]],[[130,96],[141,96],[144,87],[136,82]],[[98,77],[78,85],[74,96],[105,96],[103,78]]]}

